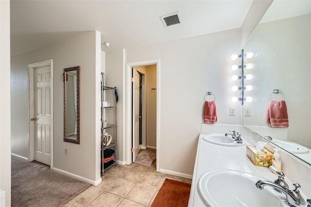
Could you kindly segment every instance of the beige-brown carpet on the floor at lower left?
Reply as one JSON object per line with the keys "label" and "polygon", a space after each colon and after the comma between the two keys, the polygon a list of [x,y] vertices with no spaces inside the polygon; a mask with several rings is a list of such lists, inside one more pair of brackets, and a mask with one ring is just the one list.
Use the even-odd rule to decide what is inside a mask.
{"label": "beige-brown carpet on the floor at lower left", "polygon": [[12,207],[62,207],[91,185],[12,156]]}

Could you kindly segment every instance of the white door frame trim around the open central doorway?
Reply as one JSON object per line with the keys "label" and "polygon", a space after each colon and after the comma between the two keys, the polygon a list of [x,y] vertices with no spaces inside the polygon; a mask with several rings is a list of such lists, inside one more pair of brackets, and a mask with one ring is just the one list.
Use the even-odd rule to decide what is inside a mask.
{"label": "white door frame trim around the open central doorway", "polygon": [[160,59],[146,60],[126,64],[125,79],[125,158],[126,164],[132,163],[132,68],[156,64],[156,171],[160,169]]}

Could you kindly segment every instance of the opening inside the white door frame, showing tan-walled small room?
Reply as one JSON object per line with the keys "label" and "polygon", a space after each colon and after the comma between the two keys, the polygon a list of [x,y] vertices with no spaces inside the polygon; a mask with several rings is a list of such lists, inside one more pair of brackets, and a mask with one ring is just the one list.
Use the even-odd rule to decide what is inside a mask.
{"label": "opening inside the white door frame, showing tan-walled small room", "polygon": [[142,150],[156,150],[156,64],[133,68],[132,77],[134,162]]}

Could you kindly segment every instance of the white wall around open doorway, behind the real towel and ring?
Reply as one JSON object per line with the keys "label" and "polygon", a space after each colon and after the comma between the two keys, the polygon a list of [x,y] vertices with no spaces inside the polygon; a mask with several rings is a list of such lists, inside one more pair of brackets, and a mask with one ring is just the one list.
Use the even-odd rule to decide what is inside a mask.
{"label": "white wall around open doorway, behind the real towel and ring", "polygon": [[[240,103],[231,102],[230,56],[240,51],[240,39],[235,29],[126,51],[126,63],[160,59],[160,169],[192,174],[207,91],[216,96],[217,123],[242,123]],[[113,66],[122,58],[122,52],[107,52],[106,72],[121,86],[123,68]],[[230,107],[237,116],[229,116]]]}

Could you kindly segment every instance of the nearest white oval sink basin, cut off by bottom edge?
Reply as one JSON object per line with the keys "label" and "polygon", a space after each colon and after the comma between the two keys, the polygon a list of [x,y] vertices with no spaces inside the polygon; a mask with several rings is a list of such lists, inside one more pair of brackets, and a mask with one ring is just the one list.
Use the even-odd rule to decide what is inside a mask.
{"label": "nearest white oval sink basin, cut off by bottom edge", "polygon": [[256,188],[263,179],[250,173],[219,170],[205,173],[198,182],[199,193],[211,207],[277,207],[285,195],[269,186]]}

